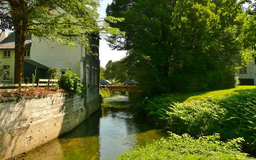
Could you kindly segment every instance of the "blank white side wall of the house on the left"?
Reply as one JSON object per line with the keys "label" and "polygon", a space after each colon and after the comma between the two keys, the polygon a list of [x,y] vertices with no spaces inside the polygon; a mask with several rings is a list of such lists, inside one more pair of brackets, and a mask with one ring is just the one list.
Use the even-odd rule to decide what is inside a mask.
{"label": "blank white side wall of the house on the left", "polygon": [[79,44],[73,46],[71,50],[68,46],[32,37],[30,59],[49,68],[71,68],[74,73],[81,77],[80,60],[83,51]]}

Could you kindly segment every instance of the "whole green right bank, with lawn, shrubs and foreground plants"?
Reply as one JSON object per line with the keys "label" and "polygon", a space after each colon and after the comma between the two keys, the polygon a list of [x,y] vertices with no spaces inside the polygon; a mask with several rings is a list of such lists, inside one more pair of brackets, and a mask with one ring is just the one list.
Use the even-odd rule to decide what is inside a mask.
{"label": "whole green right bank, with lawn, shrubs and foreground plants", "polygon": [[[236,151],[238,148],[234,151],[225,147],[236,138],[244,139],[243,149],[247,147],[246,152],[256,156],[256,86],[156,95],[146,99],[142,107],[167,130],[198,139],[161,140],[145,148],[135,148],[117,159],[246,159],[246,155]],[[215,133],[225,142],[202,141],[202,136],[211,137]],[[220,148],[214,148],[216,144]]]}

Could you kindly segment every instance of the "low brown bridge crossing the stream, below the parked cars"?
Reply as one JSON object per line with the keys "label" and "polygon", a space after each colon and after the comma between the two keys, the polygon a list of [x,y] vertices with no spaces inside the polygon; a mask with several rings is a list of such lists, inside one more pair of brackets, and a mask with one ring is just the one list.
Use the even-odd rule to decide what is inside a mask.
{"label": "low brown bridge crossing the stream, below the parked cars", "polygon": [[100,88],[107,88],[109,91],[116,92],[138,92],[139,87],[135,85],[100,85]]}

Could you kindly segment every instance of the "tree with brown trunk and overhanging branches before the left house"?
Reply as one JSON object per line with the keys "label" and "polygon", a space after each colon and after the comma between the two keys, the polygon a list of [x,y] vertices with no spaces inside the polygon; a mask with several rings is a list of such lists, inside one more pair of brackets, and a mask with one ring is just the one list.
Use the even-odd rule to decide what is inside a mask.
{"label": "tree with brown trunk and overhanging branches before the left house", "polygon": [[[0,0],[0,29],[15,31],[14,82],[23,76],[26,35],[73,46],[89,45],[90,35],[120,33],[99,20],[98,0]],[[106,18],[116,22],[118,18]]]}

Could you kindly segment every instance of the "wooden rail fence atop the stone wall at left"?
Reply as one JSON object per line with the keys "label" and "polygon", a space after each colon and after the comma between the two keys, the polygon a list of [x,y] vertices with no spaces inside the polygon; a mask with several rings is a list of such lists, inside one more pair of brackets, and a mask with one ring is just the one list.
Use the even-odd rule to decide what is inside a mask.
{"label": "wooden rail fence atop the stone wall at left", "polygon": [[[41,83],[43,82],[43,83]],[[58,83],[59,79],[39,79],[37,83],[34,84],[0,84],[0,87],[26,87],[26,86],[52,86],[53,83]]]}

